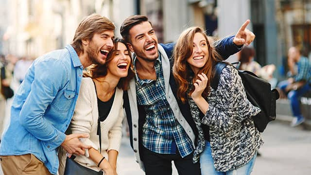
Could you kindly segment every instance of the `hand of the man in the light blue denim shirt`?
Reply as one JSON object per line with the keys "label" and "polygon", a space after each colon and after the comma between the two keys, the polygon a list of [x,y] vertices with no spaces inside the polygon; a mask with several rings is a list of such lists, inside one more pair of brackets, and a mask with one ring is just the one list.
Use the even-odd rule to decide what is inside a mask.
{"label": "hand of the man in the light blue denim shirt", "polygon": [[88,134],[76,133],[66,135],[66,139],[61,146],[69,153],[75,155],[85,155],[85,149],[90,149],[92,146],[82,143],[79,138],[88,138]]}

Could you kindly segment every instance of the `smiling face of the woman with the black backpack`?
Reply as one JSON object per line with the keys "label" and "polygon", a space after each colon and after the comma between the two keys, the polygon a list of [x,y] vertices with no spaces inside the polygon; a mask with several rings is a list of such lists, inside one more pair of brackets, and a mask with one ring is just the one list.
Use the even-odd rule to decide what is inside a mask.
{"label": "smiling face of the woman with the black backpack", "polygon": [[207,63],[207,40],[201,33],[195,33],[193,38],[192,55],[187,59],[190,68],[195,74]]}

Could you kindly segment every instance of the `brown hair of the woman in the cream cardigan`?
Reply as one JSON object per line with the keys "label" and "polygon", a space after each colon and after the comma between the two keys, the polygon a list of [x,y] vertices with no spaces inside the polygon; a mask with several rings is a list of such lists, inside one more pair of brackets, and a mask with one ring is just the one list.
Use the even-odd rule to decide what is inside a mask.
{"label": "brown hair of the woman in the cream cardigan", "polygon": [[109,62],[114,58],[114,56],[116,55],[116,51],[118,50],[118,43],[123,43],[126,47],[126,49],[129,52],[129,56],[131,58],[130,61],[130,67],[128,69],[127,72],[127,76],[126,77],[122,77],[117,85],[118,88],[122,89],[122,90],[127,90],[129,88],[129,82],[130,80],[134,77],[134,71],[133,71],[133,61],[132,61],[132,56],[130,54],[130,50],[126,44],[126,42],[121,39],[121,38],[115,38],[114,39],[114,47],[112,50],[112,53],[108,55],[108,58],[106,59],[106,62],[104,65],[101,64],[93,64],[91,66],[89,66],[85,71],[83,71],[83,76],[84,77],[90,77],[92,79],[96,79],[99,77],[104,77],[107,75],[107,65],[109,64]]}

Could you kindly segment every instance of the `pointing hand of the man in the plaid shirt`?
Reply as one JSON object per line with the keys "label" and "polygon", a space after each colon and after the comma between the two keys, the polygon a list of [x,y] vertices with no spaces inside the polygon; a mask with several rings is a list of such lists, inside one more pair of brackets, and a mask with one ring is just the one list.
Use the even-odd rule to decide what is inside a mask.
{"label": "pointing hand of the man in the plaid shirt", "polygon": [[246,29],[247,25],[250,23],[250,20],[247,19],[244,24],[242,24],[241,28],[233,38],[233,43],[237,46],[241,45],[249,45],[255,39],[255,35],[253,32]]}

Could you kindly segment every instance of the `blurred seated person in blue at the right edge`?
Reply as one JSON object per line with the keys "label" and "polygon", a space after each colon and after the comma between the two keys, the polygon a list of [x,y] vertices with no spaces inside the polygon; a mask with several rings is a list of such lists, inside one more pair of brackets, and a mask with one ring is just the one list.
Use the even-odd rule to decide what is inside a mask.
{"label": "blurred seated person in blue at the right edge", "polygon": [[299,99],[311,89],[311,62],[300,54],[297,47],[291,47],[288,50],[288,67],[292,77],[280,82],[278,88],[281,94],[287,94],[294,115],[291,126],[297,126],[305,121],[301,114]]}

